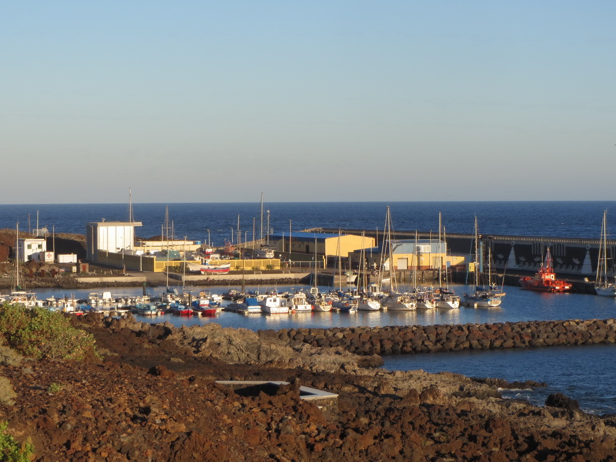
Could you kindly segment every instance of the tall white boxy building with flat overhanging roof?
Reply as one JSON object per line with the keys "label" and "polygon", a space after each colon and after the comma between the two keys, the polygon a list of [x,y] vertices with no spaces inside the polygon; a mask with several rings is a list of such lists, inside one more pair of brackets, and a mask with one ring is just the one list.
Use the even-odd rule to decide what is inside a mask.
{"label": "tall white boxy building with flat overhanging roof", "polygon": [[120,253],[135,249],[135,226],[140,221],[98,221],[86,224],[86,259],[96,261],[99,250]]}

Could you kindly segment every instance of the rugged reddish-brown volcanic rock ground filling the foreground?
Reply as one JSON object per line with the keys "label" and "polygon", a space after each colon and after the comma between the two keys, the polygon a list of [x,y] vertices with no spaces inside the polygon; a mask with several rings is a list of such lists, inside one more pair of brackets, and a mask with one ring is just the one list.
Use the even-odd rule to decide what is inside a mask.
{"label": "rugged reddish-brown volcanic rock ground filling the foreground", "polygon": [[[498,380],[386,372],[378,356],[219,325],[75,317],[103,359],[0,351],[0,420],[38,461],[613,461],[616,420],[566,399],[502,399]],[[215,380],[283,380],[241,396]],[[339,395],[321,410],[299,385]]]}

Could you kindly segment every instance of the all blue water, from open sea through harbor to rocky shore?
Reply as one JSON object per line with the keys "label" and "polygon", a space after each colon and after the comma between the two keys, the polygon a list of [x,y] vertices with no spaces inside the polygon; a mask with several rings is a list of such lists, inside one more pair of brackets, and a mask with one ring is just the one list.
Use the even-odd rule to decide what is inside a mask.
{"label": "all blue water, from open sea through harbor to rocky shore", "polygon": [[[275,233],[305,228],[383,229],[386,207],[392,215],[392,228],[396,231],[437,230],[439,212],[448,233],[472,233],[477,217],[481,233],[511,234],[545,237],[599,237],[604,210],[616,210],[616,202],[319,202],[319,203],[264,203],[264,230],[267,229],[266,212],[269,210],[269,228]],[[134,219],[142,221],[137,235],[152,237],[161,234],[167,204],[133,204]],[[182,239],[205,241],[210,230],[214,245],[230,241],[237,229],[240,216],[242,240],[260,234],[261,204],[168,204],[169,222],[174,235]],[[58,205],[0,205],[0,228],[20,229],[47,226],[57,233],[84,234],[89,221],[121,220],[129,218],[128,204],[58,204]],[[254,221],[253,221],[254,218]],[[616,226],[616,218],[614,220]],[[264,231],[265,232],[265,231]],[[237,239],[234,234],[233,239]],[[193,288],[198,293],[204,288]],[[222,293],[239,287],[211,287]],[[250,287],[267,290],[272,287]],[[279,290],[301,287],[278,287]],[[322,290],[327,290],[322,287]],[[464,287],[455,287],[460,293]],[[110,290],[119,297],[136,295],[142,289]],[[66,292],[66,291],[65,291]],[[85,297],[90,291],[75,292]],[[452,311],[403,313],[360,312],[302,313],[290,315],[241,316],[223,312],[216,317],[179,317],[164,315],[156,321],[170,321],[175,325],[207,324],[247,329],[287,329],[289,327],[385,326],[412,324],[465,324],[468,322],[534,321],[554,319],[607,319],[616,317],[616,300],[578,293],[535,293],[519,287],[506,287],[503,305],[497,309],[460,308]],[[39,298],[63,296],[57,289],[38,290]],[[150,289],[151,295],[156,290]],[[614,297],[616,298],[616,297]],[[152,322],[150,317],[144,321]],[[509,381],[534,380],[548,384],[534,391],[509,391],[507,396],[525,397],[543,404],[550,392],[562,392],[577,399],[587,412],[616,413],[616,357],[615,345],[562,346],[546,348],[503,349],[495,351],[460,351],[385,357],[385,368],[426,372],[449,371],[467,376],[499,377]]]}

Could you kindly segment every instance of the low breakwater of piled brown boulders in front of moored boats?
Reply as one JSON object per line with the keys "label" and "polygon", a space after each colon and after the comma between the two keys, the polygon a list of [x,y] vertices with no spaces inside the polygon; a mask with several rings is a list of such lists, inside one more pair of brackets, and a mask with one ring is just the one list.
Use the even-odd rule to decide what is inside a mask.
{"label": "low breakwater of piled brown boulders in front of moored boats", "polygon": [[524,348],[616,343],[616,319],[496,322],[332,329],[282,329],[282,340],[319,347],[342,347],[360,355],[392,355],[463,349]]}

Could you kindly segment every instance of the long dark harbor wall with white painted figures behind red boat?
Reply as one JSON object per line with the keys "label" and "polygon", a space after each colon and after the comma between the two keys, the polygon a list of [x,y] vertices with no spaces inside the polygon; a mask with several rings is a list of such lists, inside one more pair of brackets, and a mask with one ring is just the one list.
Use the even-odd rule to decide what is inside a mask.
{"label": "long dark harbor wall with white painted figures behind red boat", "polygon": [[[313,228],[308,230],[313,233],[338,233],[362,234],[366,237],[375,237],[376,245],[381,245],[386,239],[383,231],[375,229],[330,229]],[[437,234],[432,231],[392,231],[391,239],[437,239]],[[474,234],[447,233],[447,249],[452,255],[463,255],[466,261],[471,261],[470,256],[474,253]],[[487,255],[492,256],[492,269],[499,273],[524,274],[534,273],[545,257],[549,247],[554,259],[554,270],[564,276],[583,280],[588,278],[593,281],[597,271],[599,260],[599,244],[601,240],[583,239],[578,237],[545,237],[545,236],[507,236],[500,234],[480,234],[477,247],[487,261]],[[612,258],[616,249],[616,240],[607,241],[607,255]],[[610,260],[611,261],[611,260]],[[609,274],[614,269],[610,262]]]}

